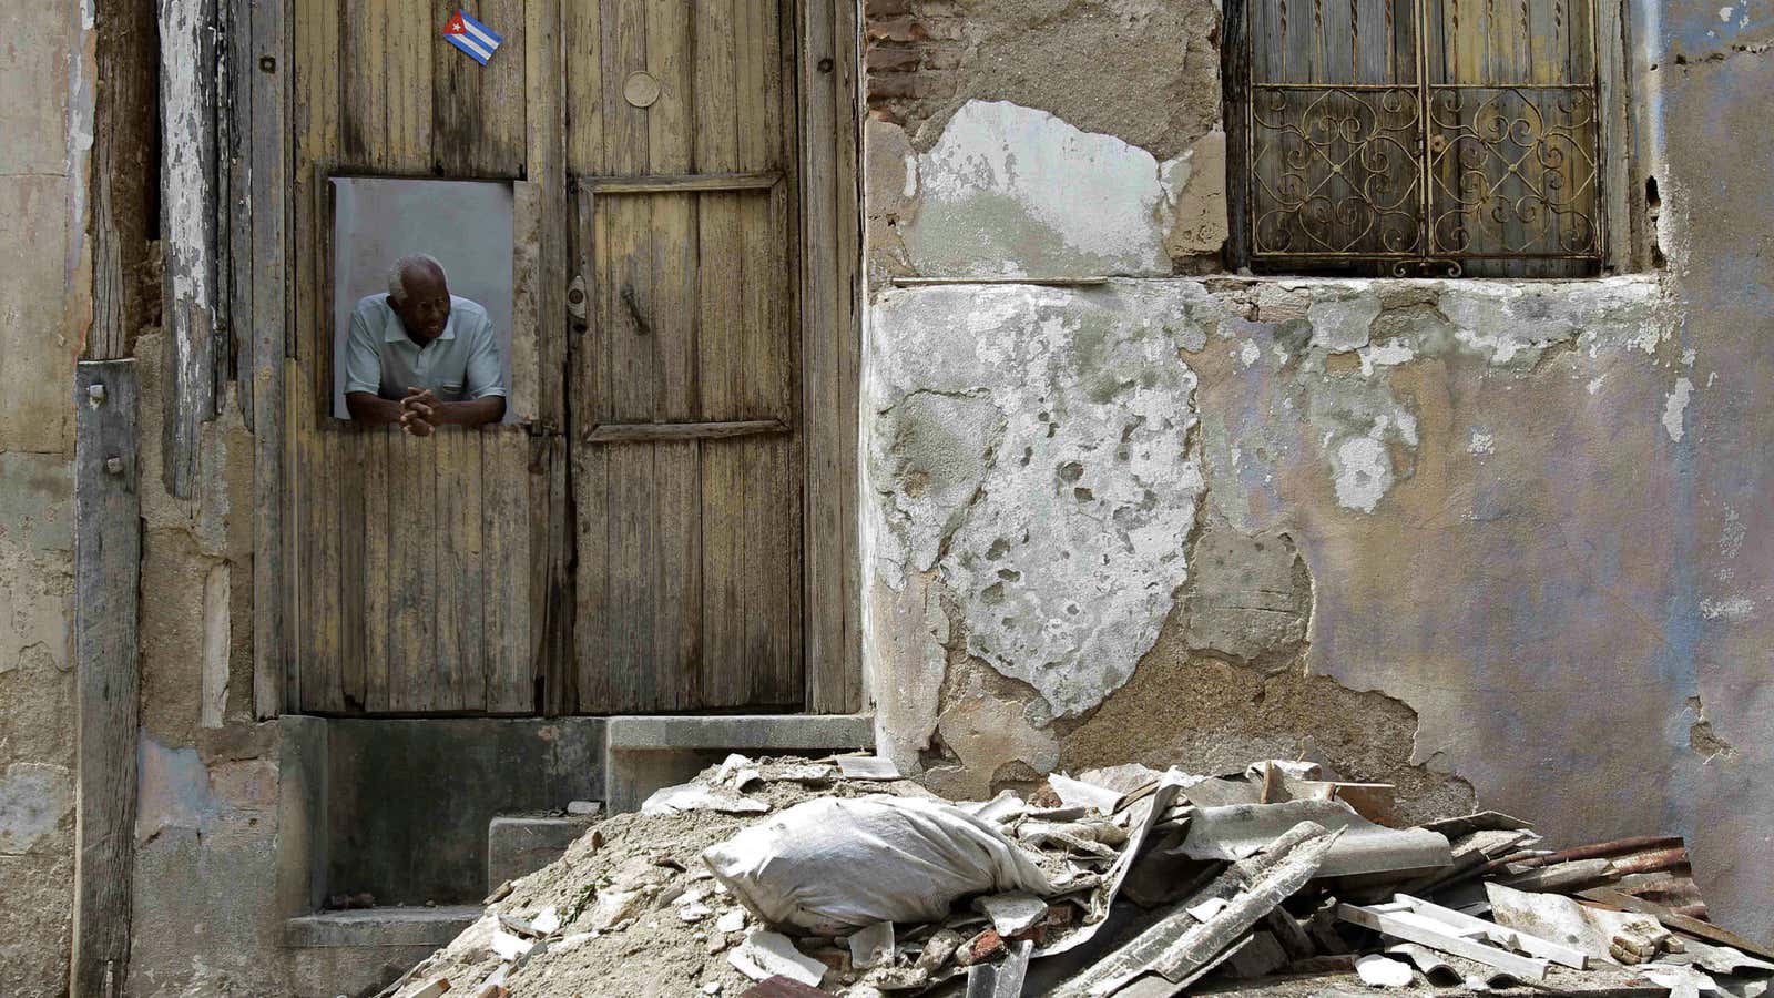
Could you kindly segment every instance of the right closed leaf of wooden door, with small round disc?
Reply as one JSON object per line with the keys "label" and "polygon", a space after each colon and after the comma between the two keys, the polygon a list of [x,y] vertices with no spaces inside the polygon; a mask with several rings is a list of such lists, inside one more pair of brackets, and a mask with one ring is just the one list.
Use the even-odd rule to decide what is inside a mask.
{"label": "right closed leaf of wooden door, with small round disc", "polygon": [[788,9],[566,0],[580,712],[804,701]]}

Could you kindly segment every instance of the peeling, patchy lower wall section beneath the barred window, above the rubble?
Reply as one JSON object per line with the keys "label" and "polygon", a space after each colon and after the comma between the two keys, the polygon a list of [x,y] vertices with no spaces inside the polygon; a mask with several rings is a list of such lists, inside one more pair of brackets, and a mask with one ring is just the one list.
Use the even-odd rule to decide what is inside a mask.
{"label": "peeling, patchy lower wall section beneath the barred window, above the rubble", "polygon": [[933,783],[1306,755],[1692,831],[1705,375],[1655,277],[908,286],[871,323],[867,646]]}

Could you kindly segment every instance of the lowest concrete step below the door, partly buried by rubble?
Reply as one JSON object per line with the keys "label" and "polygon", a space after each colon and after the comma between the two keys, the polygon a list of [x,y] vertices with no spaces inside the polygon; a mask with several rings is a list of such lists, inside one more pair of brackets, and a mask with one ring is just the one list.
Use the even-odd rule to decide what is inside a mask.
{"label": "lowest concrete step below the door, partly buried by rubble", "polygon": [[294,998],[367,998],[481,916],[479,906],[358,907],[284,922]]}

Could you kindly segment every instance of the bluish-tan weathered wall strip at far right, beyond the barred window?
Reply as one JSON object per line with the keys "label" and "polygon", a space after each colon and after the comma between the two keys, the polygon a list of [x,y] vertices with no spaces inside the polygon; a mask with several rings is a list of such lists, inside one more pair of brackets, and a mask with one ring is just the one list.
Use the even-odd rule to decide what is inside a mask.
{"label": "bluish-tan weathered wall strip at far right, beyond the barred window", "polygon": [[[1671,401],[1682,513],[1662,659],[1692,687],[1696,877],[1717,916],[1774,938],[1774,9],[1641,0],[1657,236],[1696,360]],[[1680,387],[1680,385],[1678,385]]]}

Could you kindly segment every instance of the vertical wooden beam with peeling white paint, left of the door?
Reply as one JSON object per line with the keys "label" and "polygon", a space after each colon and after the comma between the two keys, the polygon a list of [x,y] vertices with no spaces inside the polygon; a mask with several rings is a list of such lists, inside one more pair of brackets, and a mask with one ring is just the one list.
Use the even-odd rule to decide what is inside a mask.
{"label": "vertical wooden beam with peeling white paint, left of the door", "polygon": [[167,492],[190,499],[215,417],[216,0],[160,0],[161,277]]}

